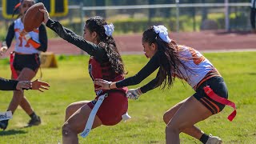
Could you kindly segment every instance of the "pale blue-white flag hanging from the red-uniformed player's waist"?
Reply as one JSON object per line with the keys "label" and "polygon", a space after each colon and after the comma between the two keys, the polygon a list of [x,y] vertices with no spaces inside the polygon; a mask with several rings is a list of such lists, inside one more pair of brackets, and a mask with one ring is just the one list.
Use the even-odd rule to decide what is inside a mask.
{"label": "pale blue-white flag hanging from the red-uniformed player's waist", "polygon": [[86,122],[85,130],[83,130],[82,133],[80,134],[82,138],[86,138],[86,136],[90,133],[91,127],[93,126],[93,123],[94,123],[95,115],[97,114],[99,107],[102,105],[102,102],[107,96],[108,94],[102,94],[101,96],[98,97],[98,100],[94,105],[93,110],[91,110],[89,118]]}

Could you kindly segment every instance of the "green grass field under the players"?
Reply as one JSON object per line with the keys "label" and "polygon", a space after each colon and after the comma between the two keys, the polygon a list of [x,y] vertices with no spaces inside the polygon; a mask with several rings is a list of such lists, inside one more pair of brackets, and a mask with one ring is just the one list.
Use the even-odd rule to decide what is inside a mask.
{"label": "green grass field under the players", "polygon": [[[256,52],[213,53],[206,58],[217,67],[229,88],[230,100],[237,105],[237,116],[233,122],[227,116],[233,111],[226,107],[220,114],[199,122],[207,134],[218,135],[224,143],[255,143],[256,121]],[[50,83],[45,93],[26,91],[35,112],[42,118],[42,125],[25,128],[29,116],[18,107],[6,131],[0,131],[0,143],[58,143],[62,142],[62,123],[65,109],[71,102],[92,100],[93,83],[90,80],[88,56],[58,56],[58,68],[42,69],[43,80]],[[142,55],[123,55],[127,76],[136,74],[148,61]],[[0,60],[0,76],[10,78],[6,59]],[[146,78],[142,86],[150,79]],[[39,78],[39,73],[37,75]],[[130,86],[134,88],[137,86]],[[101,126],[92,130],[80,143],[165,143],[165,123],[162,115],[175,103],[194,94],[190,86],[183,86],[178,80],[170,90],[151,90],[137,101],[129,101],[132,118],[116,126]],[[12,98],[12,92],[0,91],[0,111],[5,111]],[[200,143],[181,134],[181,143]]]}

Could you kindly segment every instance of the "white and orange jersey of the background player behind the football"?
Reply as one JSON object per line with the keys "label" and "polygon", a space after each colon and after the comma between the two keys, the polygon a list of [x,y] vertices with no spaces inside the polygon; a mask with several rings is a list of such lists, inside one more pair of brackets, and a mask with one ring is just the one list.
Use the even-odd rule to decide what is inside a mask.
{"label": "white and orange jersey of the background player behind the football", "polygon": [[38,54],[39,50],[37,50],[33,43],[39,44],[39,30],[38,28],[29,32],[30,40],[33,39],[33,43],[26,40],[25,35],[22,34],[24,32],[24,25],[22,23],[21,18],[18,18],[14,21],[14,32],[16,38],[16,45],[14,48],[15,52],[22,53],[22,54]]}

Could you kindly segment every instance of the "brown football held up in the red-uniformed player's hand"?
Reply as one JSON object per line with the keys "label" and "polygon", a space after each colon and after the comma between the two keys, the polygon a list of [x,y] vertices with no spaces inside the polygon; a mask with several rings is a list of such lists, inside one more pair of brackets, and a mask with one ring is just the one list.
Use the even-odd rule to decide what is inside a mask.
{"label": "brown football held up in the red-uniformed player's hand", "polygon": [[34,4],[26,11],[24,16],[24,29],[26,32],[33,31],[42,24],[43,13],[39,9],[45,9],[42,2]]}

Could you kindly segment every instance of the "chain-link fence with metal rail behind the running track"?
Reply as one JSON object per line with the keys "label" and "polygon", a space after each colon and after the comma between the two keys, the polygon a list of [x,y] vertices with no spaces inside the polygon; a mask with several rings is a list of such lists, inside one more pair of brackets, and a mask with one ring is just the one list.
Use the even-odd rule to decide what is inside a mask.
{"label": "chain-link fence with metal rail behind the running track", "polygon": [[[86,3],[87,5],[87,3]],[[0,8],[2,10],[2,8]],[[87,18],[100,15],[114,23],[119,34],[140,33],[148,26],[162,24],[172,31],[250,30],[250,3],[173,3],[134,6],[69,6],[62,24],[82,33]],[[228,17],[227,17],[228,16]],[[55,18],[56,19],[56,18]],[[0,32],[11,20],[1,16]]]}

